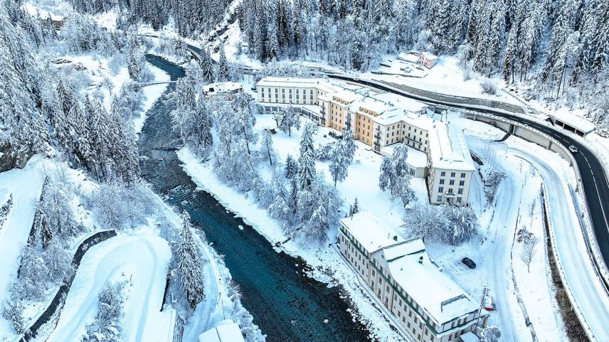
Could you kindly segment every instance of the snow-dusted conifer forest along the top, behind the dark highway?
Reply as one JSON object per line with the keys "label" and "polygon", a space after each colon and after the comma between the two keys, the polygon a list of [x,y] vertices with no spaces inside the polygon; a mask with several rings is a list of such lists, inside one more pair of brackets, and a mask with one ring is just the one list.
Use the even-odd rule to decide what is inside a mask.
{"label": "snow-dusted conifer forest along the top, behind the dark highway", "polygon": [[[90,13],[116,5],[72,2]],[[171,16],[181,35],[195,38],[218,23],[229,5],[118,1],[131,21],[159,27]],[[241,0],[235,15],[248,55],[258,60],[322,60],[369,70],[386,54],[429,50],[456,55],[466,77],[501,78],[544,102],[589,105],[593,120],[607,124],[606,1]]]}

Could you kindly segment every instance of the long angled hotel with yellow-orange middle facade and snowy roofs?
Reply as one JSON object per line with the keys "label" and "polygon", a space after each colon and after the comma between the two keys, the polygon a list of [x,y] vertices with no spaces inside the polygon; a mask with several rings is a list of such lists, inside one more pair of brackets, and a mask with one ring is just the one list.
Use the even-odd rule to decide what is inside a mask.
{"label": "long angled hotel with yellow-orange middle facade and snowy roofs", "polygon": [[426,178],[430,203],[467,204],[475,166],[465,138],[423,102],[321,78],[263,78],[256,92],[261,112],[294,107],[319,125],[351,130],[383,154],[408,145],[410,172]]}

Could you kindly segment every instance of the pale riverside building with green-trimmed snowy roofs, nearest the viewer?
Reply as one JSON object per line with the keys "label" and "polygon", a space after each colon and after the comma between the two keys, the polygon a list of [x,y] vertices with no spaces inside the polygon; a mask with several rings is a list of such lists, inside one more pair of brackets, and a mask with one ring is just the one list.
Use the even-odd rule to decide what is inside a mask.
{"label": "pale riverside building with green-trimmed snowy roofs, nearest the viewer", "polygon": [[486,326],[487,311],[430,260],[422,240],[404,239],[370,212],[340,223],[342,257],[401,330],[418,342],[477,341],[473,331]]}

